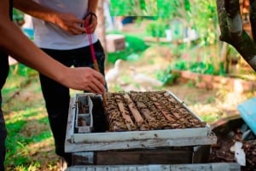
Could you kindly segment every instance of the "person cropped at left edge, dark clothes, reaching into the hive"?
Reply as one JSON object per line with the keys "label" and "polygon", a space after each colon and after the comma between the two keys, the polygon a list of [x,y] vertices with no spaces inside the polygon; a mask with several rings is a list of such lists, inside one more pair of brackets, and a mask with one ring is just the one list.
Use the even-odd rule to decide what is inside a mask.
{"label": "person cropped at left edge, dark clothes, reaching into the hive", "polygon": [[[30,0],[23,0],[24,2]],[[20,31],[20,28],[10,20],[12,16],[12,1],[0,1],[0,89],[2,90],[9,73],[8,56],[20,61],[26,66],[40,71],[47,77],[69,88],[87,90],[96,94],[105,92],[104,78],[98,71],[90,67],[71,68],[49,57]],[[0,91],[0,105],[2,94]],[[7,130],[4,123],[2,107],[0,107],[0,170],[4,170],[5,140]]]}

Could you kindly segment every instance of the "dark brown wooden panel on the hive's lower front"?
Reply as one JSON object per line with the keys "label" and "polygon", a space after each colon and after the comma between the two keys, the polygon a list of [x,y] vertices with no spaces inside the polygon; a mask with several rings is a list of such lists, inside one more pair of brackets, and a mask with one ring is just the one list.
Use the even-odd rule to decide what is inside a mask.
{"label": "dark brown wooden panel on the hive's lower front", "polygon": [[[207,152],[207,151],[206,151]],[[97,165],[192,163],[193,148],[96,151]]]}

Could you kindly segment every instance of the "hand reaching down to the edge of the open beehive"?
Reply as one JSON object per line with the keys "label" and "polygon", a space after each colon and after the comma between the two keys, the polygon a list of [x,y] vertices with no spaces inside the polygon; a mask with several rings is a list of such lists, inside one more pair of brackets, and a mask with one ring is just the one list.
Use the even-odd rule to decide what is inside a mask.
{"label": "hand reaching down to the edge of the open beehive", "polygon": [[67,67],[67,72],[63,73],[61,83],[68,88],[86,90],[96,94],[105,93],[102,74],[90,67]]}

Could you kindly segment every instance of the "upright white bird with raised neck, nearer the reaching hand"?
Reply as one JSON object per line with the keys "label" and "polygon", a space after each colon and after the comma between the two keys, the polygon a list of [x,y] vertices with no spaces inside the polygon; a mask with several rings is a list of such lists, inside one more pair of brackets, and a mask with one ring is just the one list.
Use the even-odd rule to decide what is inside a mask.
{"label": "upright white bird with raised neck, nearer the reaching hand", "polygon": [[105,75],[106,82],[108,85],[116,83],[119,77],[119,69],[123,60],[116,60],[112,69],[108,70]]}

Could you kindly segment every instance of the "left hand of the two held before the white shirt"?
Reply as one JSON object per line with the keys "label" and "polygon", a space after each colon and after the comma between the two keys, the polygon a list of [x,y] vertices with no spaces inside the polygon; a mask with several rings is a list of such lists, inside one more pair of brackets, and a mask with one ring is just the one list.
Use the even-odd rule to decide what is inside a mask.
{"label": "left hand of the two held before the white shirt", "polygon": [[74,14],[56,14],[54,23],[73,35],[79,35],[85,31],[84,20],[77,18]]}

